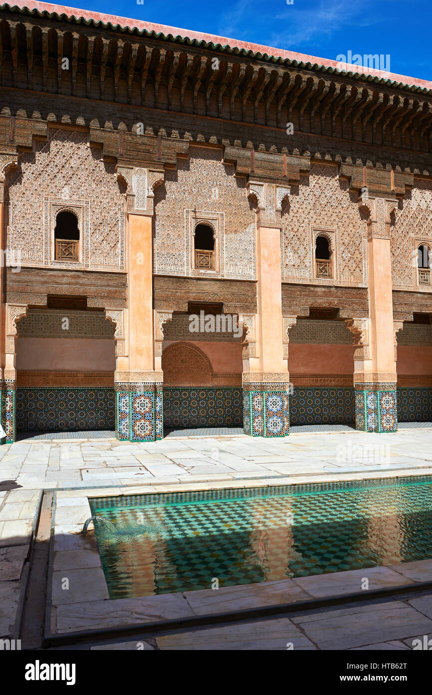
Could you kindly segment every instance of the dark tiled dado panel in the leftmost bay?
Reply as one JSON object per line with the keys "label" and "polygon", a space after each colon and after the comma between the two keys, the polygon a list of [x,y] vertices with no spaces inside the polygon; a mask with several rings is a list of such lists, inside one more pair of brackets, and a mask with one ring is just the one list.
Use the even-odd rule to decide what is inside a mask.
{"label": "dark tiled dado panel in the leftmost bay", "polygon": [[111,386],[18,386],[16,409],[17,430],[24,432],[114,430],[115,426]]}

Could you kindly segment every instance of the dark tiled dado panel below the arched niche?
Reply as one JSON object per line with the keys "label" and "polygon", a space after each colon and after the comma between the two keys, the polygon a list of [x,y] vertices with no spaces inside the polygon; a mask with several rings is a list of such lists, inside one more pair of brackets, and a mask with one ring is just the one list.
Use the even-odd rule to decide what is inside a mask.
{"label": "dark tiled dado panel below the arched niche", "polygon": [[165,427],[241,427],[242,389],[236,386],[164,386]]}

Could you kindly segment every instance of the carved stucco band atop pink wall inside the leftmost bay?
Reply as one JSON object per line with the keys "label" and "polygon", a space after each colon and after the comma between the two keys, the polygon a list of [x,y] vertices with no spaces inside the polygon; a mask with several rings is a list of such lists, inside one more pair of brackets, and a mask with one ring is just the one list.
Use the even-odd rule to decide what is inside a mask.
{"label": "carved stucco band atop pink wall inside the leftmost bay", "polygon": [[[65,321],[65,318],[67,321]],[[110,340],[114,326],[101,311],[28,309],[17,323],[20,338],[92,338]]]}

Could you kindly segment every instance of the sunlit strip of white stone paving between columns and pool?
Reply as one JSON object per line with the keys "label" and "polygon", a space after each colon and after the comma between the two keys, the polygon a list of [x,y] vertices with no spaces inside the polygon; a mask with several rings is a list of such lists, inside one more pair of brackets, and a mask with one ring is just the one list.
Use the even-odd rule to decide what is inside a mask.
{"label": "sunlit strip of white stone paving between columns and pool", "polygon": [[[90,434],[90,433],[89,433]],[[116,439],[24,439],[0,447],[0,492],[305,477],[358,480],[372,472],[432,473],[432,430],[394,434],[343,430],[283,439],[172,436],[156,442]],[[375,477],[375,476],[374,476]],[[0,521],[1,525],[1,521]],[[1,537],[1,534],[0,534]]]}

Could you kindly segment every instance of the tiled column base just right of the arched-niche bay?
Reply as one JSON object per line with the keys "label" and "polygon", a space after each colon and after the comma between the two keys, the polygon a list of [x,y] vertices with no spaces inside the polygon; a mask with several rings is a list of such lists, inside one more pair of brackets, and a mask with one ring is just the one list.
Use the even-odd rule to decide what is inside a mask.
{"label": "tiled column base just right of the arched-niche bay", "polygon": [[290,434],[288,384],[244,384],[243,431],[251,436]]}

